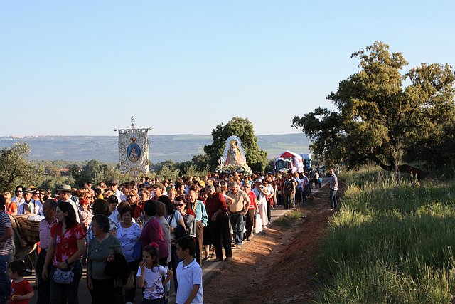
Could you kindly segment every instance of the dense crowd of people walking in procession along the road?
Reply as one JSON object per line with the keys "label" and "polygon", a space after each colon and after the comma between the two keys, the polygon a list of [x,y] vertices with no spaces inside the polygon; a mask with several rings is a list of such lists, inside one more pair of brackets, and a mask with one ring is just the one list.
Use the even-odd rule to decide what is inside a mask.
{"label": "dense crowd of people walking in procession along the road", "polygon": [[0,304],[33,297],[30,288],[13,288],[28,269],[10,263],[9,215],[42,216],[37,303],[79,303],[84,266],[92,303],[133,303],[137,288],[142,303],[166,303],[170,280],[176,303],[202,303],[202,262],[232,260],[258,222],[267,229],[272,209],[294,208],[321,183],[311,172],[112,179],[82,189],[63,184],[55,193],[19,185],[15,196],[0,196]]}

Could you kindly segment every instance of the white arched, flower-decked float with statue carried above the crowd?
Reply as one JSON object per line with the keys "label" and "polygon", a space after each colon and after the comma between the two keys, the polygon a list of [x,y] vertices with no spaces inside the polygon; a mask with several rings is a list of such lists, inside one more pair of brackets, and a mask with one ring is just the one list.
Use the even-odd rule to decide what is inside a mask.
{"label": "white arched, flower-decked float with statue carried above the crowd", "polygon": [[218,159],[218,166],[215,172],[218,173],[245,173],[251,174],[251,168],[247,165],[245,152],[242,147],[242,140],[232,135],[226,140],[223,156]]}

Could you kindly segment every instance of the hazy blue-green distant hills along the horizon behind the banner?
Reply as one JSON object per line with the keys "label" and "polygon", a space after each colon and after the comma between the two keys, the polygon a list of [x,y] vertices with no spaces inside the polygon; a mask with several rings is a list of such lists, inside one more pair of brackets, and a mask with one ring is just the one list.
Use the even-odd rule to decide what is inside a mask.
{"label": "hazy blue-green distant hills along the horizon behind the banner", "polygon": [[[284,150],[297,153],[308,152],[309,140],[304,133],[257,136],[259,149],[267,151],[272,159]],[[0,137],[0,148],[10,147],[14,142],[28,142],[30,159],[83,161],[97,159],[100,162],[118,162],[117,136],[30,136]],[[204,146],[212,143],[211,135],[151,135],[150,162],[174,162],[191,160],[203,154]]]}

